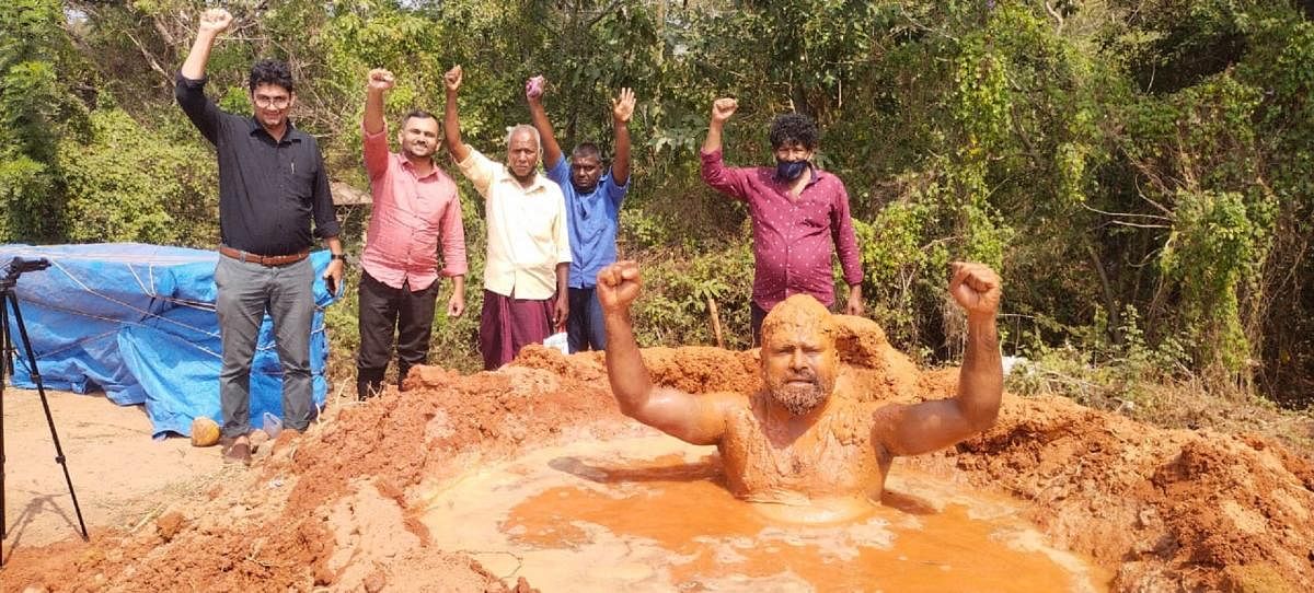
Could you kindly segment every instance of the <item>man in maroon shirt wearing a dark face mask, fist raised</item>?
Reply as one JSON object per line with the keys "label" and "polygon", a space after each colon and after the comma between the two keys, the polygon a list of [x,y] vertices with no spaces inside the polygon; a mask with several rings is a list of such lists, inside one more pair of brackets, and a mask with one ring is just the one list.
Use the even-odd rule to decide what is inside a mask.
{"label": "man in maroon shirt wearing a dark face mask, fist raised", "polygon": [[721,130],[738,104],[717,98],[703,142],[703,181],[748,203],[753,218],[753,344],[761,342],[762,319],[777,303],[808,294],[834,304],[832,243],[840,253],[849,300],[844,312],[862,315],[862,262],[849,218],[844,182],[816,168],[817,127],[807,115],[786,113],[771,125],[775,167],[725,167]]}

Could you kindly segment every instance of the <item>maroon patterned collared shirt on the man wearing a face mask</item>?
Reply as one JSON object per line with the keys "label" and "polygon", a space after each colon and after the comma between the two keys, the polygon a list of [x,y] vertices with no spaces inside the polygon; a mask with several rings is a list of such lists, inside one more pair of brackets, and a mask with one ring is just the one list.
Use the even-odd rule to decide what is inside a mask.
{"label": "maroon patterned collared shirt on the man wearing a face mask", "polygon": [[849,194],[840,177],[812,169],[798,198],[775,180],[775,168],[725,167],[721,151],[702,152],[703,181],[748,202],[753,218],[753,302],[765,311],[795,294],[834,303],[830,244],[840,252],[844,281],[862,283],[858,239],[849,218]]}

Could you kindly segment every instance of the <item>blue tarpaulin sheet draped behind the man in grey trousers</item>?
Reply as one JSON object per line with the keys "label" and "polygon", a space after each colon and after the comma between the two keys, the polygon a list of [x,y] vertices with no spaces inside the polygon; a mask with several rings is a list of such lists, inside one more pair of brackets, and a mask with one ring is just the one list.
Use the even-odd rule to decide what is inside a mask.
{"label": "blue tarpaulin sheet draped behind the man in grey trousers", "polygon": [[[214,312],[214,251],[138,243],[0,245],[0,266],[14,256],[45,257],[50,268],[24,273],[14,289],[47,388],[102,390],[120,405],[145,404],[154,436],[189,436],[192,420],[219,421],[219,325]],[[332,296],[321,278],[328,252],[310,255],[315,315],[310,335],[313,396],[328,390],[323,308]],[[35,388],[9,312],[14,356],[12,384]],[[251,365],[251,420],[283,417],[283,369],[268,315]]]}

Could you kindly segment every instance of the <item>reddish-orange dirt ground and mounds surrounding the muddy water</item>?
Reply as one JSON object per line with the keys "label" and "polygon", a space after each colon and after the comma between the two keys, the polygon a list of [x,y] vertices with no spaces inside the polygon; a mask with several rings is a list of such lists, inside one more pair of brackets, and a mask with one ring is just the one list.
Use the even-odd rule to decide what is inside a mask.
{"label": "reddish-orange dirt ground and mounds surrounding the muddy water", "polygon": [[[953,394],[953,370],[920,373],[874,325],[846,328],[846,373],[863,398]],[[657,348],[644,356],[654,380],[686,391],[758,384],[752,353]],[[92,542],[68,538],[62,506],[7,500],[11,526],[12,509],[25,518],[5,541],[7,555],[17,550],[0,589],[530,590],[533,575],[503,581],[468,552],[436,548],[419,521],[423,497],[481,462],[640,432],[616,412],[600,357],[531,348],[498,373],[419,367],[407,387],[332,405],[300,440],[264,443],[246,471],[219,466],[214,449],[151,442],[143,417],[129,419],[142,422],[133,429],[122,420],[131,412],[80,398],[71,408],[97,409],[57,422],[97,526]],[[43,419],[29,411],[14,421],[26,428],[12,429],[26,404],[5,394],[8,442],[18,442],[18,430],[30,434],[21,455],[11,445],[11,466],[45,458]],[[57,415],[79,400],[57,399]],[[1301,592],[1314,583],[1314,464],[1261,437],[1164,430],[1064,399],[1005,395],[987,433],[909,463],[1021,501],[1055,546],[1114,575],[1113,590]],[[43,472],[54,481],[12,485],[11,497],[63,504],[58,466],[22,471],[29,483]]]}

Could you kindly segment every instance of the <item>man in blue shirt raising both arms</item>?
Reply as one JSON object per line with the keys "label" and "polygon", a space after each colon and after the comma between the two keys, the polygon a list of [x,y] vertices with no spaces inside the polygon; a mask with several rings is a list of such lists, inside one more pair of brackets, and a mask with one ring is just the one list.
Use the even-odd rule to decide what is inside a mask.
{"label": "man in blue shirt raising both arms", "polygon": [[611,100],[615,127],[615,159],[611,171],[603,172],[602,152],[597,144],[581,143],[570,151],[570,161],[552,131],[552,121],[543,108],[543,76],[524,85],[533,127],[543,138],[543,164],[548,178],[561,186],[566,198],[566,220],[570,228],[570,316],[566,317],[566,341],[570,352],[604,350],[606,329],[602,306],[594,295],[598,272],[616,261],[616,227],[620,203],[629,190],[629,117],[635,113],[635,93],[620,89]]}

